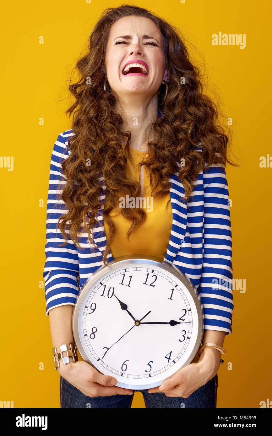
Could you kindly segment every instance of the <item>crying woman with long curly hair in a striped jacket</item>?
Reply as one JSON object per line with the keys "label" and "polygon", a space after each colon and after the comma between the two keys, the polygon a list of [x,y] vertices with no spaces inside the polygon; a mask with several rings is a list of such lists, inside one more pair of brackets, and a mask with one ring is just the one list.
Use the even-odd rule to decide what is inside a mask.
{"label": "crying woman with long curly hair in a striped jacket", "polygon": [[[78,287],[96,269],[122,255],[155,255],[200,290],[202,343],[218,347],[141,391],[145,404],[216,407],[220,350],[232,333],[228,137],[178,31],[161,18],[135,6],[108,8],[89,49],[69,87],[72,129],[58,136],[50,168],[43,276],[54,353],[74,343]],[[152,198],[153,210],[120,208],[126,195]],[[61,407],[131,406],[133,390],[83,360],[60,361],[58,371]]]}

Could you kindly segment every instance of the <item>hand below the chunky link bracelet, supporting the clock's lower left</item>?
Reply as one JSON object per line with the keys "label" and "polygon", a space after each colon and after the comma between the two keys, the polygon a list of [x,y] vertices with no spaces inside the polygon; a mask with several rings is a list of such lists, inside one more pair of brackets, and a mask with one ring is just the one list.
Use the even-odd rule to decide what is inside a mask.
{"label": "hand below the chunky link bracelet, supporting the clock's lower left", "polygon": [[[114,386],[117,383],[116,378],[100,374],[100,372],[85,361],[70,362],[66,365],[61,362],[58,371],[71,385],[91,398],[133,394],[131,389]],[[115,383],[111,385],[113,380]]]}

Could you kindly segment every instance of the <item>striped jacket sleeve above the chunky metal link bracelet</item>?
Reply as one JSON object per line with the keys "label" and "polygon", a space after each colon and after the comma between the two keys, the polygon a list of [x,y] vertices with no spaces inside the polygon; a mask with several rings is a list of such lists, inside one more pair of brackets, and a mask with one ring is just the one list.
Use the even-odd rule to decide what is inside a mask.
{"label": "striped jacket sleeve above the chunky metal link bracelet", "polygon": [[[45,279],[46,316],[50,309],[65,304],[74,304],[78,294],[79,259],[76,245],[69,235],[67,223],[65,232],[68,243],[62,247],[65,238],[56,225],[60,215],[67,211],[62,200],[58,200],[57,194],[62,192],[65,184],[65,176],[61,164],[69,156],[69,150],[65,145],[63,134],[60,133],[52,151],[49,172],[49,187],[46,216],[46,244],[43,277]],[[59,190],[58,190],[59,189]]]}

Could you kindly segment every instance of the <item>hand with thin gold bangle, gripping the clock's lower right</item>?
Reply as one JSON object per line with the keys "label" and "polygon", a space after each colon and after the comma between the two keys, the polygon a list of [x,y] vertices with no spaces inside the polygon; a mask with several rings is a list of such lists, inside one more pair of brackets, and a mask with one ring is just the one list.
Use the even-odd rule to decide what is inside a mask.
{"label": "hand with thin gold bangle, gripping the clock's lower right", "polygon": [[196,363],[181,368],[176,374],[166,378],[162,385],[148,389],[148,392],[163,392],[167,397],[188,398],[217,374],[220,358],[220,351],[204,348]]}

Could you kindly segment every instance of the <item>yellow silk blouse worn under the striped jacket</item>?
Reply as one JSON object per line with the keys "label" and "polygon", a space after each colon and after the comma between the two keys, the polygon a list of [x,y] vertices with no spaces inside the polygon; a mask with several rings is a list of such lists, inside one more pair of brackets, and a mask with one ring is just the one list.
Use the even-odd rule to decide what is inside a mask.
{"label": "yellow silk blouse worn under the striped jacket", "polygon": [[[141,152],[130,148],[131,159],[127,157],[127,177],[130,180],[139,181],[141,167],[138,164],[149,157],[149,153]],[[159,184],[157,190],[161,189]],[[122,194],[121,194],[122,195]],[[113,242],[110,247],[114,259],[125,255],[153,255],[162,260],[165,257],[172,229],[172,204],[170,192],[161,198],[153,198],[151,202],[150,174],[144,166],[144,193],[146,204],[143,209],[146,212],[145,221],[131,233],[127,240],[127,231],[131,226],[131,221],[124,218],[121,213],[120,203],[110,212],[110,218],[116,226]],[[130,199],[124,196],[125,201]],[[107,204],[107,197],[105,198]],[[136,204],[137,207],[137,204]],[[141,207],[141,204],[138,205]],[[109,227],[104,220],[106,237],[109,236]]]}

